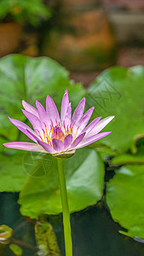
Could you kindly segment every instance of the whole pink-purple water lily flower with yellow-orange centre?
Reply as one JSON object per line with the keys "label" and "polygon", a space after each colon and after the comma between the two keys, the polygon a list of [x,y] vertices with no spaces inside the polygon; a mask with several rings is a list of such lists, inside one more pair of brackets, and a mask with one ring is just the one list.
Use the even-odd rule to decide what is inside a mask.
{"label": "whole pink-purple water lily flower with yellow-orange centre", "polygon": [[111,133],[111,131],[100,131],[114,116],[109,116],[105,119],[97,117],[88,125],[94,107],[89,108],[84,113],[85,98],[83,98],[72,114],[67,90],[65,90],[62,98],[60,115],[55,102],[50,96],[47,96],[46,99],[46,110],[40,102],[36,102],[37,108],[33,108],[25,101],[22,101],[22,105],[25,108],[22,109],[22,112],[31,122],[33,130],[17,119],[9,118],[9,120],[20,131],[25,133],[33,143],[4,143],[3,145],[7,148],[18,148],[54,155],[74,154],[77,148],[83,148],[90,143],[95,143],[95,141]]}

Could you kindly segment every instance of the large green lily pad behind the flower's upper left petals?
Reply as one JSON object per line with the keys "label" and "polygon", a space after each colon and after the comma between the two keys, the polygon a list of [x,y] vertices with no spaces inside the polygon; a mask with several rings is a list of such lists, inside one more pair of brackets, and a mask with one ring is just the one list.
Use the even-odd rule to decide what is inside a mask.
{"label": "large green lily pad behind the flower's upper left petals", "polygon": [[72,84],[64,67],[48,57],[3,57],[0,60],[0,136],[6,140],[17,138],[18,130],[10,124],[8,116],[25,121],[20,109],[22,100],[32,105],[36,100],[45,104],[46,96],[50,95],[60,107],[66,89],[73,106],[85,93],[81,84]]}

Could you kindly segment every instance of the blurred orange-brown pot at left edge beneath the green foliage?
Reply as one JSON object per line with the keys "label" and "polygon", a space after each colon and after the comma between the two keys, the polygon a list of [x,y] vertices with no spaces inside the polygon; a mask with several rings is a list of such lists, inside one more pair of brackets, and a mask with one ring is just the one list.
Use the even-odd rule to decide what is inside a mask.
{"label": "blurred orange-brown pot at left edge beneath the green foliage", "polygon": [[0,56],[13,53],[20,44],[22,27],[15,22],[0,24]]}

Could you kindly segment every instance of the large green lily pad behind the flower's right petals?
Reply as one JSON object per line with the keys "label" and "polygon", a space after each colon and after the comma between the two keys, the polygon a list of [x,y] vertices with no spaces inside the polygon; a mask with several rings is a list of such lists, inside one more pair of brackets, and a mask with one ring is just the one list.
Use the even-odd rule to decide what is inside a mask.
{"label": "large green lily pad behind the flower's right petals", "polygon": [[112,134],[101,143],[135,153],[135,141],[144,137],[144,67],[107,69],[90,85],[87,98],[95,116],[115,115],[105,128]]}

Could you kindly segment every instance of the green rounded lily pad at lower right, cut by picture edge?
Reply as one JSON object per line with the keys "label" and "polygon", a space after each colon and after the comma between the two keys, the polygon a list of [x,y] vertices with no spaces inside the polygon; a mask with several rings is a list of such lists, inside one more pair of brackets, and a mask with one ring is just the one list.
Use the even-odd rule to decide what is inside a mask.
{"label": "green rounded lily pad at lower right, cut by picture edge", "polygon": [[144,166],[122,167],[107,183],[107,205],[114,221],[127,232],[144,238]]}

